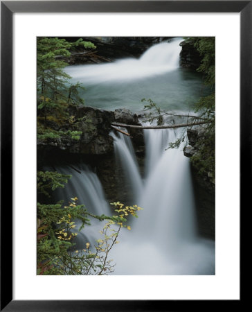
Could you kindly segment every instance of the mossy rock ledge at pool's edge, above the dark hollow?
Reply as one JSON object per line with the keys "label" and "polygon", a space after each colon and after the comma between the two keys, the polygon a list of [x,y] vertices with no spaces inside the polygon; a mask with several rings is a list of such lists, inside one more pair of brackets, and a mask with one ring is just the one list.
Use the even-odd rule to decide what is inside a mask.
{"label": "mossy rock ledge at pool's edge, above the dark hollow", "polygon": [[[67,153],[80,155],[106,155],[114,151],[113,139],[109,135],[112,131],[111,123],[114,121],[120,123],[130,123],[139,125],[138,116],[126,109],[118,109],[114,112],[100,110],[95,107],[72,105],[69,108],[69,114],[73,121],[71,127],[75,131],[81,131],[80,139],[71,139],[71,137],[62,136],[60,138],[38,140],[39,150],[64,150]],[[50,127],[57,131],[64,131],[56,123],[50,122]],[[141,130],[131,130],[129,132],[133,137],[133,142],[137,146],[143,146],[143,132]]]}

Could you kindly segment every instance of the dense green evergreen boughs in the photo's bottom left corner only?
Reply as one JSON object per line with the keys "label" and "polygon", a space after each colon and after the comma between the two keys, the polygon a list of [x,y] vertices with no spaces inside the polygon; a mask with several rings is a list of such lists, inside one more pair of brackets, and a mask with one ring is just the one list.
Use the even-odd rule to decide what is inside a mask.
{"label": "dense green evergreen boughs in the photo's bottom left corner only", "polygon": [[[62,275],[62,266],[69,258],[68,250],[76,236],[71,230],[73,219],[89,224],[83,205],[42,205],[37,203],[37,274]],[[59,265],[58,261],[61,261]]]}

